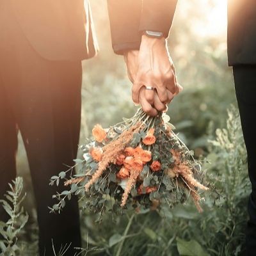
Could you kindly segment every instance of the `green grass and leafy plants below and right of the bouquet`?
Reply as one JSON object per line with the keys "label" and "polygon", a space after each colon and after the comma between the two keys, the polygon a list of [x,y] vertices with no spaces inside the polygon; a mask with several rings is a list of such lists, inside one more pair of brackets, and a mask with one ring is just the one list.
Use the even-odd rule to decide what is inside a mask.
{"label": "green grass and leafy plants below and right of the bouquet", "polygon": [[[96,216],[87,213],[84,228],[90,230],[90,241],[104,248],[97,255],[115,255],[120,252],[120,246],[120,255],[125,256],[244,255],[245,202],[250,186],[246,150],[235,107],[228,110],[227,127],[218,129],[216,134],[209,145],[208,157],[212,164],[205,163],[205,167],[208,173],[223,181],[216,186],[219,184],[224,196],[218,200],[206,198],[201,214],[187,202],[186,207],[180,205],[172,210],[163,207],[162,213],[146,211],[133,217],[122,216],[117,218],[115,225],[110,214],[100,225],[95,225],[92,223]],[[108,232],[103,238],[99,234],[104,230]]]}

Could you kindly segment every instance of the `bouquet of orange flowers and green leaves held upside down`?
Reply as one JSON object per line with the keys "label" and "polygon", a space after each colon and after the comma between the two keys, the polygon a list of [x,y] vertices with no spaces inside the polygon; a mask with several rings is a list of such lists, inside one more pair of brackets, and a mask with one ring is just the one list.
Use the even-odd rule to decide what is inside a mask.
{"label": "bouquet of orange flowers and green leaves held upside down", "polygon": [[67,179],[67,172],[61,172],[51,178],[51,184],[65,178],[65,185],[71,185],[55,195],[60,202],[51,210],[60,211],[75,193],[84,209],[100,214],[107,205],[117,214],[131,208],[161,209],[163,204],[172,208],[189,195],[201,212],[201,194],[209,183],[201,162],[173,132],[169,119],[164,113],[148,116],[140,108],[108,129],[95,125],[93,140],[80,147],[83,157],[71,168],[76,166],[77,174]]}

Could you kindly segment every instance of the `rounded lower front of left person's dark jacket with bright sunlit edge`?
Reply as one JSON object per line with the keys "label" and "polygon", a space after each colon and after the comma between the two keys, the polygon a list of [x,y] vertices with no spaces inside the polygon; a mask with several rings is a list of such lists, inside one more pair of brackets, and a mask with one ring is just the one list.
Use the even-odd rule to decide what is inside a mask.
{"label": "rounded lower front of left person's dark jacket with bright sunlit edge", "polygon": [[10,1],[24,34],[44,58],[84,60],[95,56],[98,45],[88,0]]}

